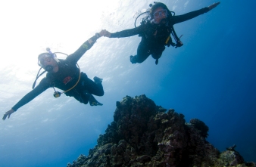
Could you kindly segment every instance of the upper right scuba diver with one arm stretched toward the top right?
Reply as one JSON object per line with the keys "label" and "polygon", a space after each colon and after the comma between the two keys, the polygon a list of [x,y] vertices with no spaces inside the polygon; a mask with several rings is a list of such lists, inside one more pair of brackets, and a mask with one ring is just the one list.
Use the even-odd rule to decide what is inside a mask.
{"label": "upper right scuba diver with one arm stretched toward the top right", "polygon": [[[175,13],[173,11],[169,11],[167,6],[163,3],[154,3],[154,5],[149,5],[151,8],[148,11],[142,13],[148,13],[148,16],[142,19],[140,26],[136,27],[135,21],[135,28],[133,29],[125,29],[114,33],[108,31],[105,32],[104,36],[109,38],[123,38],[138,34],[142,37],[137,48],[137,55],[130,56],[131,63],[142,63],[149,55],[151,55],[155,59],[155,64],[158,64],[158,59],[161,57],[165,46],[169,47],[172,45],[177,48],[183,45],[180,38],[176,36],[176,32],[173,29],[174,24],[198,17],[200,14],[207,13],[220,4],[220,2],[217,2],[198,11],[192,11],[187,14],[175,16]],[[141,14],[139,14],[139,16],[140,15]],[[172,34],[176,43],[172,41],[170,34]]]}

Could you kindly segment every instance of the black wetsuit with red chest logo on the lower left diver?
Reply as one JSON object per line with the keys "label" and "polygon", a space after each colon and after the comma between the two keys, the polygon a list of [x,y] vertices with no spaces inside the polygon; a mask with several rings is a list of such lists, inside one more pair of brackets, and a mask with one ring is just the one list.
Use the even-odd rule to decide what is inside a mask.
{"label": "black wetsuit with red chest logo on the lower left diver", "polygon": [[77,51],[70,54],[65,60],[60,60],[58,63],[58,72],[47,73],[46,77],[41,80],[39,85],[26,94],[17,104],[14,105],[14,107],[12,107],[12,109],[16,111],[18,108],[32,101],[33,98],[41,94],[43,91],[53,86],[60,88],[63,91],[67,91],[72,88],[73,85],[76,85],[79,76],[80,81],[74,88],[65,93],[67,96],[74,97],[77,101],[80,101],[83,104],[88,104],[89,99],[94,98],[92,97],[92,94],[103,96],[104,91],[101,83],[96,84],[93,82],[87,77],[86,73],[80,73],[79,68],[76,66],[80,57],[82,57],[83,54],[92,47],[97,39],[97,36],[92,36],[92,38],[84,42]]}

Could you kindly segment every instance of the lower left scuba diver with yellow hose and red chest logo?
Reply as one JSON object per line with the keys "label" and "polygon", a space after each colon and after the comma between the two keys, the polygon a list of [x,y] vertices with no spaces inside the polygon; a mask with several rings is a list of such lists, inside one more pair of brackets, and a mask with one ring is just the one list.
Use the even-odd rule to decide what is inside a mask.
{"label": "lower left scuba diver with yellow hose and red chest logo", "polygon": [[[95,36],[88,39],[83,45],[80,46],[73,54],[67,56],[66,59],[58,59],[55,53],[49,48],[46,48],[48,52],[39,54],[38,64],[43,68],[46,73],[46,77],[39,82],[39,85],[35,87],[36,80],[33,84],[33,90],[26,94],[11,110],[8,110],[5,115],[2,117],[3,120],[10,118],[11,114],[14,113],[17,109],[22,107],[23,105],[29,103],[33,100],[33,98],[37,97],[43,91],[48,88],[60,88],[61,90],[65,90],[63,92],[55,91],[54,96],[59,97],[62,93],[67,96],[74,97],[77,101],[83,104],[89,104],[91,106],[102,106],[101,103],[95,100],[95,97],[92,94],[97,96],[103,96],[104,90],[101,85],[102,79],[95,76],[94,82],[89,79],[86,73],[80,72],[80,68],[77,65],[77,61],[92,47],[92,45],[96,42],[98,38],[103,36],[105,30],[101,30],[101,32],[96,33]],[[61,53],[61,52],[56,52]],[[40,70],[41,70],[40,69]],[[40,71],[39,70],[39,71]],[[36,79],[39,78],[39,73],[36,76]]]}

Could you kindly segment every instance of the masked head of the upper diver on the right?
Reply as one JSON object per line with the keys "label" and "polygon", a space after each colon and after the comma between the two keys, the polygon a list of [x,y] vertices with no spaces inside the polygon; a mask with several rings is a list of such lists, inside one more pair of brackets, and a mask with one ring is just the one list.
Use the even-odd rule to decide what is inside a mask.
{"label": "masked head of the upper diver on the right", "polygon": [[154,2],[155,5],[151,5],[150,17],[154,23],[161,23],[161,20],[165,20],[170,14],[166,5],[161,2]]}

